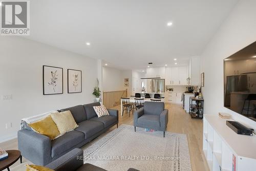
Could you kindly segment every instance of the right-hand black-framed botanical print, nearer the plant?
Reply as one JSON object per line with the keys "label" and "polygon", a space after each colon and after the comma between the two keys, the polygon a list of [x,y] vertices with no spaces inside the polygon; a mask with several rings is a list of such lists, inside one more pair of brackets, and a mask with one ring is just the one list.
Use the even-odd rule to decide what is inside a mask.
{"label": "right-hand black-framed botanical print, nearer the plant", "polygon": [[68,69],[68,93],[82,92],[82,71]]}

